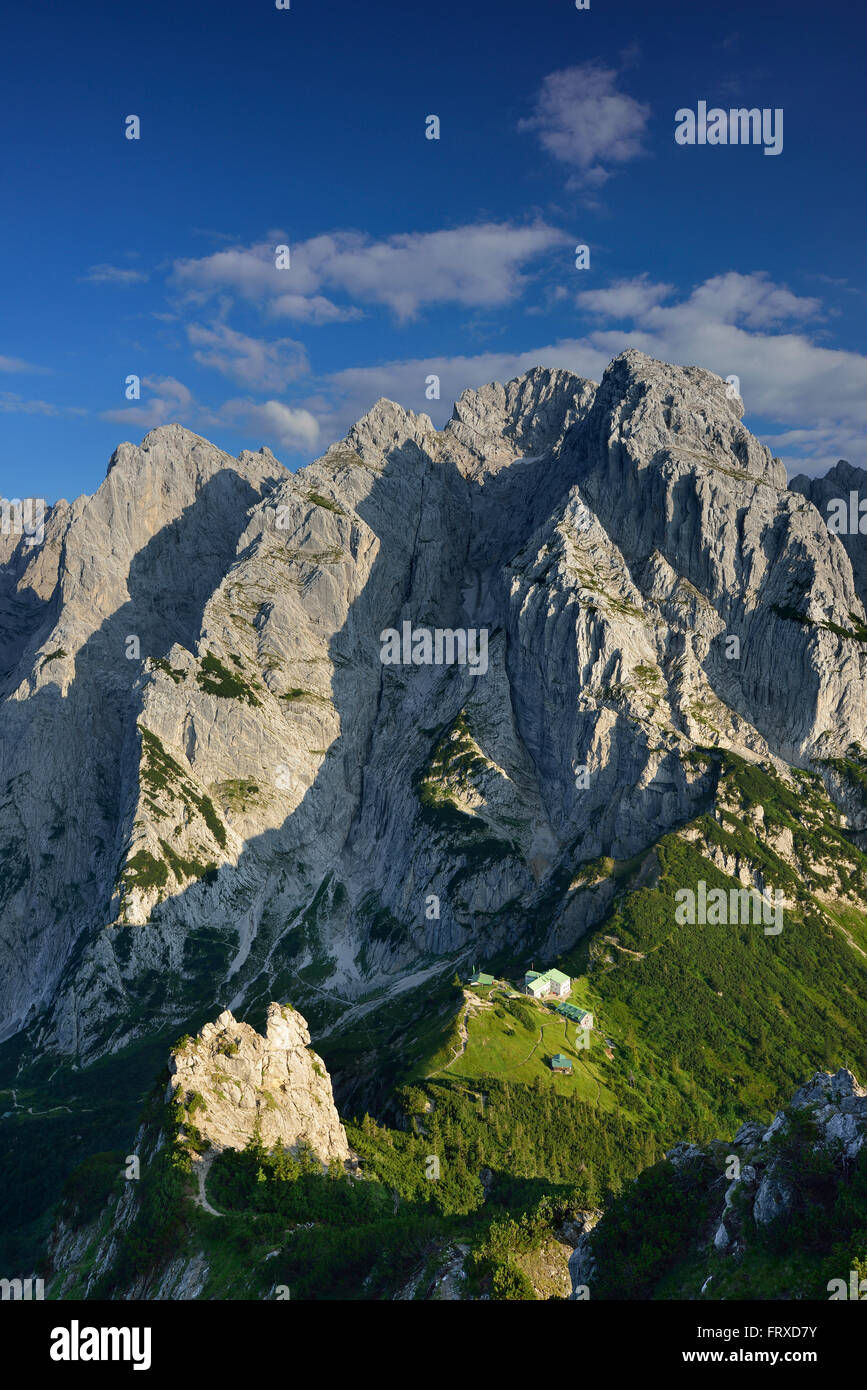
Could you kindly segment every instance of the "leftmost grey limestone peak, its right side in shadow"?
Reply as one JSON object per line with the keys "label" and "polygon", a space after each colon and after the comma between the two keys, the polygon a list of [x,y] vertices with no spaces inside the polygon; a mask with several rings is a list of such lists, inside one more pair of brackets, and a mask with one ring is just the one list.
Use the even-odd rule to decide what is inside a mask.
{"label": "leftmost grey limestone peak, its right side in shadow", "polygon": [[82,935],[113,920],[147,657],[195,645],[249,507],[283,473],[163,425],[119,445],[99,491],[58,502],[43,543],[22,539],[0,566],[0,1037],[57,998]]}

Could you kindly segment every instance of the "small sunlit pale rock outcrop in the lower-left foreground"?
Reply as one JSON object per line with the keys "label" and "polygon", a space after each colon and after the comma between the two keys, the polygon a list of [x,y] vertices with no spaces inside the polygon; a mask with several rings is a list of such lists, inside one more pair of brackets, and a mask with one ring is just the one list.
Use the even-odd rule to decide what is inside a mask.
{"label": "small sunlit pale rock outcrop in the lower-left foreground", "polygon": [[225,1009],[172,1052],[170,1073],[213,1148],[242,1150],[258,1126],[265,1148],[306,1144],[324,1163],[350,1158],[331,1079],[310,1049],[307,1023],[289,1005],[270,1005],[264,1037]]}

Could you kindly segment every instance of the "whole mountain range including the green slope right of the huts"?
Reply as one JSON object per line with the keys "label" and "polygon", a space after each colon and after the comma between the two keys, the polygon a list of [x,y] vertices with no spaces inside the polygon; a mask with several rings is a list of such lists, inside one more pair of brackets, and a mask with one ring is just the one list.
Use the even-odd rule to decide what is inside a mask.
{"label": "whole mountain range including the green slope right of the huts", "polygon": [[[864,1074],[867,541],[828,503],[867,474],[788,484],[742,413],[628,350],[467,391],[442,431],[379,400],[297,473],[163,425],[38,543],[0,535],[13,1169],[69,1136],[28,1241],[181,1029],[275,999],[342,1108],[406,1126],[453,976],[559,962],[653,1131],[606,1183],[816,1066]],[[699,881],[781,891],[779,941],[713,923],[699,959]]]}

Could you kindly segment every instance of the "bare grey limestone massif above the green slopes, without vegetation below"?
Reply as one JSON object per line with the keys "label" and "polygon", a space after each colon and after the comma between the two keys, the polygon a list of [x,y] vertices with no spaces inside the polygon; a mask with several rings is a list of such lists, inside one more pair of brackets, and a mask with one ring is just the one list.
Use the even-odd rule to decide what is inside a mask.
{"label": "bare grey limestone massif above the green slopes, without vegetation below", "polygon": [[[867,826],[829,770],[867,741],[850,553],[711,373],[535,368],[442,431],[381,400],[295,474],[165,425],[10,539],[0,1040],[33,1052],[353,1005],[531,920],[563,949],[610,902],[575,870],[703,809],[709,742]],[[404,623],[484,630],[485,671],[383,664]]]}

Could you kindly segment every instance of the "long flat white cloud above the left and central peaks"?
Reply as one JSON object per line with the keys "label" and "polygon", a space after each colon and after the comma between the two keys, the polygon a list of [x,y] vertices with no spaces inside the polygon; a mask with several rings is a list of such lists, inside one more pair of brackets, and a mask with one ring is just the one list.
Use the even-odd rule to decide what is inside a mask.
{"label": "long flat white cloud above the left and central peaks", "polygon": [[[275,267],[281,242],[268,240],[175,261],[175,278],[200,302],[233,291],[274,317],[328,322],[358,317],[358,306],[371,303],[406,320],[424,304],[511,303],[527,284],[524,267],[568,240],[545,222],[482,222],[403,232],[381,242],[360,232],[335,232],[292,246],[288,270]],[[349,296],[350,303],[338,304],[322,289]]]}

